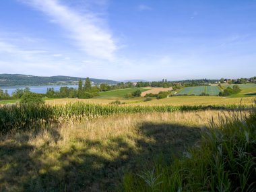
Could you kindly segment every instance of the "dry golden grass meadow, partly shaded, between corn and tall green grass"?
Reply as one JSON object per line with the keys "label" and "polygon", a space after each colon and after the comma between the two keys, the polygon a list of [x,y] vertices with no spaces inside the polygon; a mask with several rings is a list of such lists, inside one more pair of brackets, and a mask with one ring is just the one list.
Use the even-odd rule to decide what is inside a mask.
{"label": "dry golden grass meadow, partly shaded, between corn and tall green grass", "polygon": [[1,135],[0,191],[115,191],[126,170],[139,170],[162,153],[171,159],[218,115],[115,115]]}

